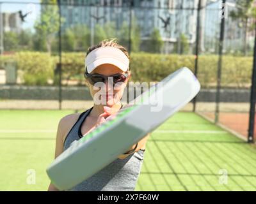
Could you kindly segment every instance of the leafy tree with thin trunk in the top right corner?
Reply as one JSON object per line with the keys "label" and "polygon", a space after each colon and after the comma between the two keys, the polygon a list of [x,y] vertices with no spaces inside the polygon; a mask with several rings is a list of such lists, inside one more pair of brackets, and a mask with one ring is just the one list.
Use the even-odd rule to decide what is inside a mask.
{"label": "leafy tree with thin trunk in the top right corner", "polygon": [[239,0],[236,2],[236,10],[230,11],[230,17],[234,20],[241,20],[244,26],[244,55],[247,55],[248,22],[255,14],[253,1],[254,0]]}

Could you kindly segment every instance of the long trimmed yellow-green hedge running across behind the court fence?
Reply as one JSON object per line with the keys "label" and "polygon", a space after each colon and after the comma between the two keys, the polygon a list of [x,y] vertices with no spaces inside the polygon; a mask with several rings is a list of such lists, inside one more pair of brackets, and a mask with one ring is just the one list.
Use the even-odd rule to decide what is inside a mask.
{"label": "long trimmed yellow-green hedge running across behind the court fence", "polygon": [[[84,53],[62,54],[63,79],[84,81]],[[42,52],[17,52],[13,57],[0,57],[0,64],[6,60],[17,62],[17,68],[23,74],[24,84],[47,85],[47,80],[54,80],[54,69],[58,56]],[[225,87],[248,87],[252,75],[252,57],[223,56],[221,85]],[[194,55],[162,55],[145,52],[132,53],[130,68],[134,82],[156,82],[182,66],[192,71],[195,69]],[[198,79],[202,87],[216,85],[218,55],[200,55],[198,59]],[[55,78],[56,80],[56,78]]]}

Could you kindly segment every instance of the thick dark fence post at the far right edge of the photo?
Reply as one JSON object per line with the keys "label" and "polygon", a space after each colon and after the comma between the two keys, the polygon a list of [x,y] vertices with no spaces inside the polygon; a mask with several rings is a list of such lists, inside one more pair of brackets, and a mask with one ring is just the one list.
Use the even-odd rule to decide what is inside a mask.
{"label": "thick dark fence post at the far right edge of the photo", "polygon": [[252,87],[251,87],[251,98],[250,98],[250,117],[249,117],[249,131],[248,131],[248,142],[253,143],[254,130],[255,130],[255,104],[256,104],[256,29],[255,29],[255,40],[254,40],[254,55],[253,55],[253,69],[252,69]]}

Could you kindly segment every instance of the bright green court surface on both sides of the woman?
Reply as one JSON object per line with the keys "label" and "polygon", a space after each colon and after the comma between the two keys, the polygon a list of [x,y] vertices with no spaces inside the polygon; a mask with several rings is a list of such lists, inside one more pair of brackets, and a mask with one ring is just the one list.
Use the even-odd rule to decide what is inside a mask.
{"label": "bright green court surface on both sides of the woman", "polygon": [[[58,121],[69,113],[0,110],[0,191],[47,190]],[[256,191],[255,161],[254,145],[180,112],[150,136],[136,191]]]}

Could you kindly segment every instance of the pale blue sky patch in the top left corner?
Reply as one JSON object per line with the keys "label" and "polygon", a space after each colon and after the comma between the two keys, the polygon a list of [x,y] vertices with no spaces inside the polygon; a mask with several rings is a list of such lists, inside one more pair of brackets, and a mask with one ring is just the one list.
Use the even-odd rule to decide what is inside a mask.
{"label": "pale blue sky patch in the top left corner", "polygon": [[17,11],[22,11],[22,13],[29,13],[26,17],[26,22],[22,24],[23,29],[31,28],[33,30],[33,25],[35,20],[40,15],[40,0],[0,0],[1,12],[3,13],[15,13]]}

